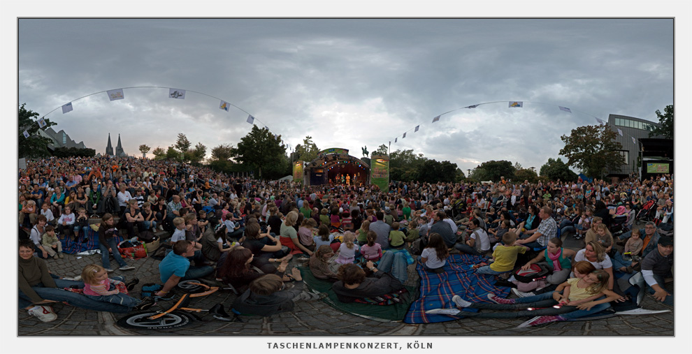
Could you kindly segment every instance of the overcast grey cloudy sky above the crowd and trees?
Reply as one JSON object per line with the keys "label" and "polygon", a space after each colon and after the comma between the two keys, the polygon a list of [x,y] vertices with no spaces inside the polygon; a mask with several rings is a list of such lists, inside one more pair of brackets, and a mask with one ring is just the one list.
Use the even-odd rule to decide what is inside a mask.
{"label": "overcast grey cloudy sky above the crowd and trees", "polygon": [[[101,153],[109,132],[114,145],[121,134],[127,154],[143,143],[165,149],[181,132],[208,151],[236,145],[252,127],[245,110],[290,146],[311,135],[319,148],[360,157],[361,147],[391,141],[393,151],[414,149],[464,172],[493,159],[540,168],[558,156],[561,135],[596,124],[594,116],[657,121],[655,111],[673,103],[670,19],[18,23],[19,102],[46,115],[73,101],[72,112],[48,118]],[[164,88],[76,99],[141,86]],[[168,87],[190,91],[174,100]],[[242,110],[219,110],[219,100],[191,91]]]}

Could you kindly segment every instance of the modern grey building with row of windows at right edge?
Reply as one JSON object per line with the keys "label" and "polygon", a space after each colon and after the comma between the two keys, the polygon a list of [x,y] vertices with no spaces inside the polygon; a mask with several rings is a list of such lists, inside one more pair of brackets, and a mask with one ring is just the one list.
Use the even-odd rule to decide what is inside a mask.
{"label": "modern grey building with row of windows at right edge", "polygon": [[[672,173],[672,140],[665,139],[661,135],[649,138],[649,131],[660,124],[635,117],[610,115],[608,126],[616,133],[616,141],[622,145],[620,153],[625,158],[625,164],[619,169],[608,170],[607,177],[628,177],[633,173],[646,177],[647,163],[654,163],[652,161],[658,163],[668,159],[670,159]],[[618,129],[622,131],[622,136],[618,133]],[[670,149],[668,149],[669,145]],[[640,169],[642,163],[644,168]]]}

